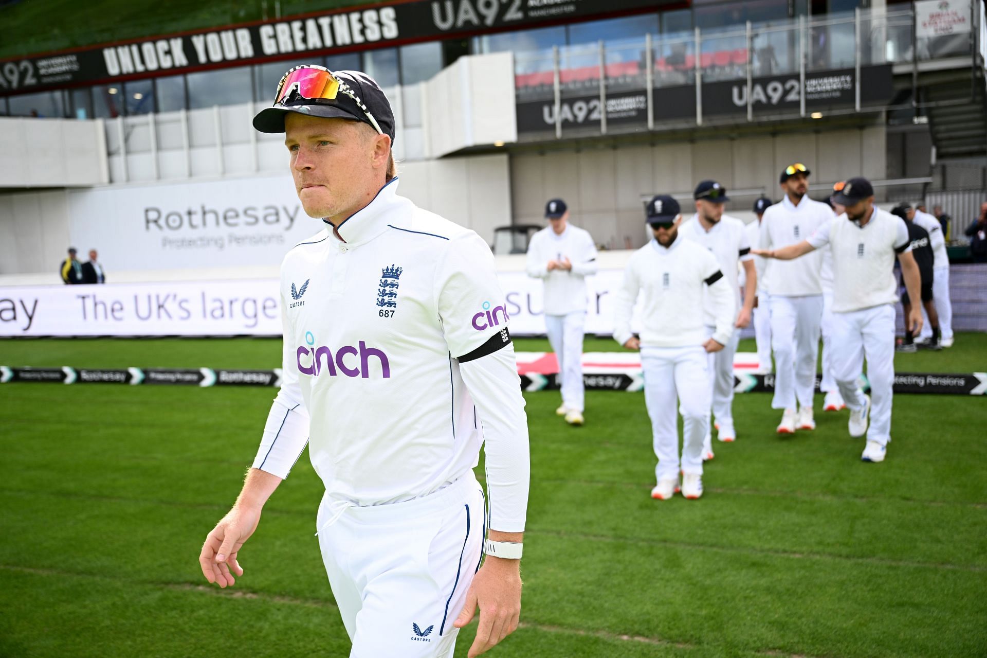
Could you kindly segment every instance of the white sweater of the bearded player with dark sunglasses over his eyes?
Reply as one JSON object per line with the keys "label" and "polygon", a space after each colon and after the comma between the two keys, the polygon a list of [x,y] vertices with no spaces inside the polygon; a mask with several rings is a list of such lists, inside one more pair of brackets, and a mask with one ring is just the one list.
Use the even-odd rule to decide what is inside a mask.
{"label": "white sweater of the bearded player with dark sunglasses over his eyes", "polygon": [[681,235],[668,248],[651,240],[634,252],[624,270],[624,283],[614,300],[614,339],[623,345],[634,336],[631,316],[640,296],[642,347],[702,345],[707,292],[716,309],[713,338],[726,345],[733,333],[736,302],[716,256]]}

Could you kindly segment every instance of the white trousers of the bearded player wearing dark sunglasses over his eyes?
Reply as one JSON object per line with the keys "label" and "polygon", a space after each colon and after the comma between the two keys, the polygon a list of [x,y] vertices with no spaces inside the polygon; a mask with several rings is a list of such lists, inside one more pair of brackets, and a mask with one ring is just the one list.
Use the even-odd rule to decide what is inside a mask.
{"label": "white trousers of the bearded player wearing dark sunglasses over his eyes", "polygon": [[[702,346],[642,348],[645,405],[651,419],[656,479],[703,473],[703,438],[709,429],[709,360]],[[682,411],[682,459],[679,460],[676,410]]]}

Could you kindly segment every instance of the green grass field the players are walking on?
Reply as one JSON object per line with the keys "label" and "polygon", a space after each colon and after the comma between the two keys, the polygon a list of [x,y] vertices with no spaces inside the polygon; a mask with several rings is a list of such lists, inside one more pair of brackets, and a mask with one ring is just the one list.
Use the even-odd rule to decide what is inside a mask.
{"label": "green grass field the players are walking on", "polygon": [[[273,340],[0,341],[8,366],[277,359]],[[987,336],[899,355],[897,368],[987,370]],[[241,551],[236,587],[209,587],[198,570],[272,395],[0,386],[0,656],[347,655],[313,536],[322,490],[307,458]],[[738,441],[715,447],[704,498],[662,503],[648,497],[643,395],[588,392],[578,429],[555,416],[557,395],[526,395],[522,627],[491,655],[987,654],[987,400],[897,396],[887,460],[867,464],[847,412],[819,412],[815,432],[781,439],[769,396],[737,395]]]}

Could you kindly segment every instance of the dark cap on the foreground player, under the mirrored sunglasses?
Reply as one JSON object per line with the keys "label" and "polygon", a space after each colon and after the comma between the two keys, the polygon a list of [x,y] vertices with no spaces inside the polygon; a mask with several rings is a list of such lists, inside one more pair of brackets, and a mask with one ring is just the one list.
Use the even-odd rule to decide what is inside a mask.
{"label": "dark cap on the foreground player, under the mirrored sunglasses", "polygon": [[[298,68],[302,67],[289,69],[285,76]],[[327,70],[316,65],[311,65],[310,68]],[[380,85],[361,71],[331,71],[331,73],[340,81],[340,90],[336,98],[305,98],[301,95],[300,86],[289,88],[279,102],[275,101],[273,106],[265,108],[254,117],[254,127],[261,132],[284,132],[284,118],[289,112],[294,112],[323,119],[350,119],[366,123],[376,129],[367,116],[369,114],[380,126],[380,131],[391,138],[393,146],[394,112]],[[285,84],[285,87],[287,86]],[[281,94],[280,84],[276,93]]]}

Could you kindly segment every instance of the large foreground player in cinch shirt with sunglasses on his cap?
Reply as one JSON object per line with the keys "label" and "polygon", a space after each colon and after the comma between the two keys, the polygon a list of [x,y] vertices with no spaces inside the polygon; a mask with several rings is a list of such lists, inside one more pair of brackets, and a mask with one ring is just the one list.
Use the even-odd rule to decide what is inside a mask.
{"label": "large foreground player in cinch shirt with sunglasses on his cap", "polygon": [[[241,546],[308,444],[350,656],[452,656],[478,604],[479,655],[517,626],[529,477],[493,255],[398,196],[394,116],[365,74],[292,68],[254,126],[285,133],[298,197],[324,224],[281,265],[281,388],[202,572],[221,587],[243,575]],[[489,514],[473,476],[482,444]]]}

